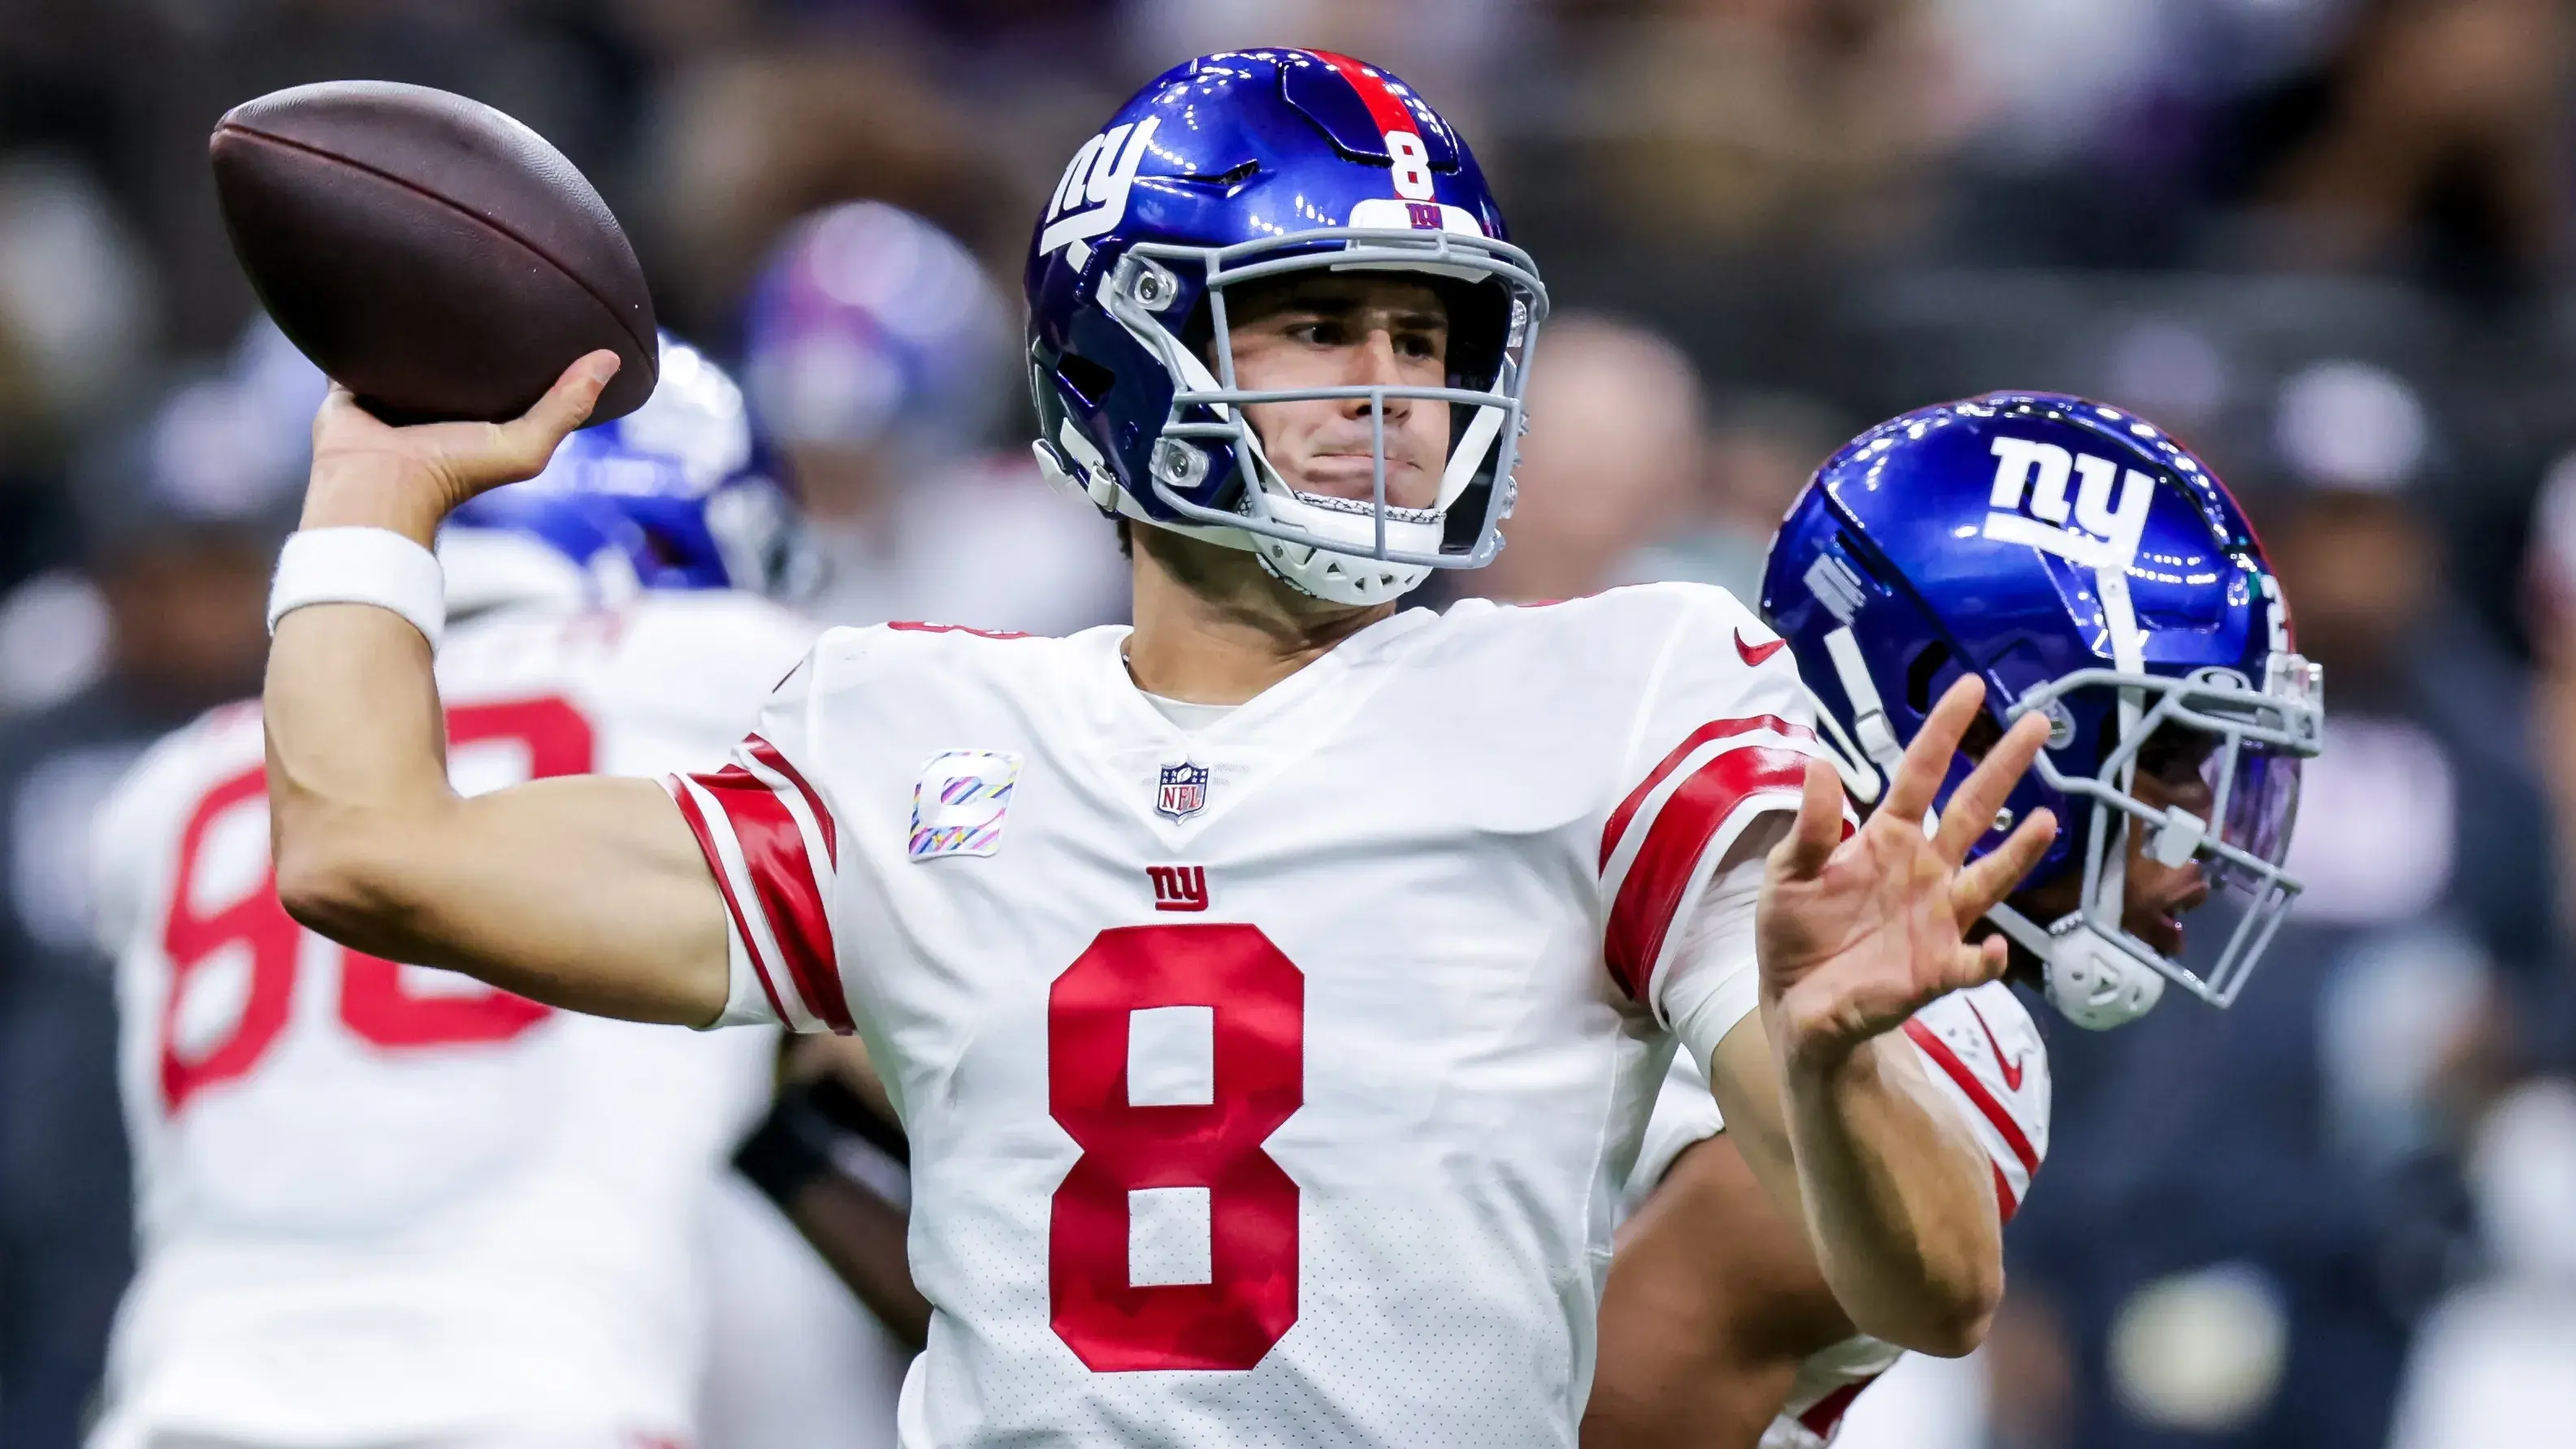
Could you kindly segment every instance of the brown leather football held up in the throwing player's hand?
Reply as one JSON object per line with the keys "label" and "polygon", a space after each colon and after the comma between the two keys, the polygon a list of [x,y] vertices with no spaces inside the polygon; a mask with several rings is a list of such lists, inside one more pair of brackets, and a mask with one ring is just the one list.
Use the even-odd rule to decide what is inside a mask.
{"label": "brown leather football held up in the throwing player's hand", "polygon": [[379,417],[510,420],[598,347],[623,365],[592,422],[652,396],[652,296],[626,232],[510,116],[330,80],[234,106],[206,149],[260,304]]}

